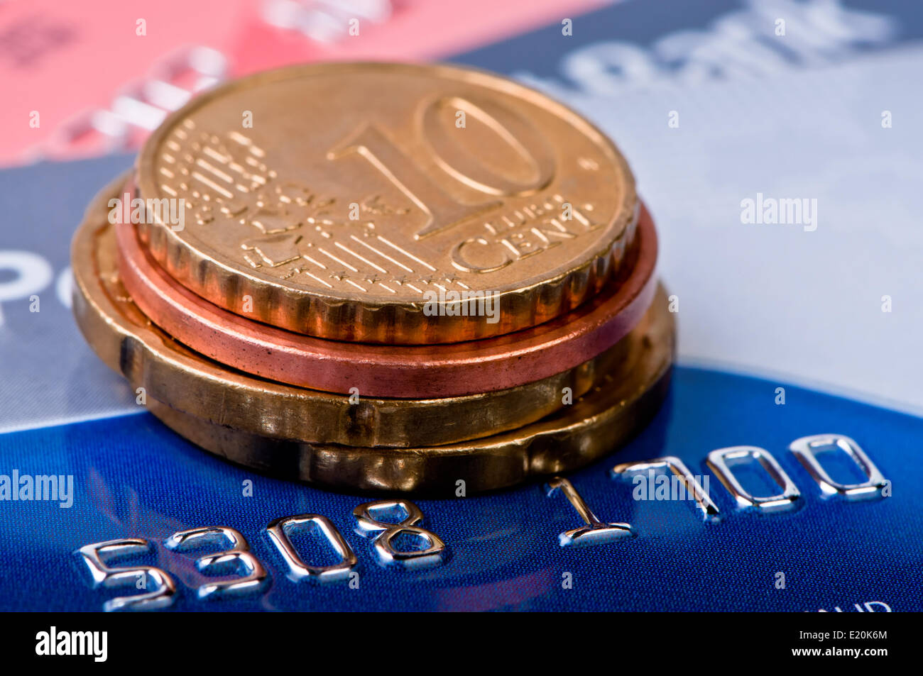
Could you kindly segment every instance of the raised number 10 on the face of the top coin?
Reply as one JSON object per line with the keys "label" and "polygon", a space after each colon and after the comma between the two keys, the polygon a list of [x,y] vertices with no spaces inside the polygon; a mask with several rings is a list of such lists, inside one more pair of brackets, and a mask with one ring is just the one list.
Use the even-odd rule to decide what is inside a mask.
{"label": "raised number 10 on the face of the top coin", "polygon": [[[527,168],[529,177],[517,181],[493,172],[464,150],[464,125],[450,130],[442,122],[445,110],[456,111],[456,119],[473,118],[491,129]],[[461,118],[460,118],[461,116]],[[432,150],[437,166],[454,180],[486,195],[530,195],[551,183],[555,160],[545,140],[533,126],[519,115],[495,103],[480,103],[457,97],[434,101],[426,107],[420,130],[423,140]],[[448,228],[465,219],[499,207],[502,200],[486,200],[464,204],[434,181],[424,167],[405,155],[376,125],[361,125],[353,134],[327,153],[328,160],[338,160],[358,153],[375,167],[391,184],[421,208],[426,224],[414,234],[415,239]]]}

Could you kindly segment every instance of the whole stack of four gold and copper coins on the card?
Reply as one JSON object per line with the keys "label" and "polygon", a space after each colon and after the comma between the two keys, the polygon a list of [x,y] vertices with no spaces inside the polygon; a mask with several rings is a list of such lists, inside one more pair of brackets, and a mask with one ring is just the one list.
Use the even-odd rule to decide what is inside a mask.
{"label": "whole stack of four gold and copper coins on the card", "polygon": [[285,68],[168,117],[73,245],[90,345],[275,475],[458,494],[578,468],[665,397],[675,325],[617,148],[444,65]]}

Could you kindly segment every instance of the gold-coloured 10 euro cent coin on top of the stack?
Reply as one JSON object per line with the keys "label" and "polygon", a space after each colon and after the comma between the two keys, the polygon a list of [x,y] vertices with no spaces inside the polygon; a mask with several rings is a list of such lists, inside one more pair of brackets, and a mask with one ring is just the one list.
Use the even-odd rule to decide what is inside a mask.
{"label": "gold-coloured 10 euro cent coin on top of the stack", "polygon": [[393,344],[572,310],[621,264],[637,215],[628,166],[593,125],[447,65],[230,83],[150,136],[137,183],[177,201],[183,216],[161,209],[141,239],[190,290],[274,326]]}

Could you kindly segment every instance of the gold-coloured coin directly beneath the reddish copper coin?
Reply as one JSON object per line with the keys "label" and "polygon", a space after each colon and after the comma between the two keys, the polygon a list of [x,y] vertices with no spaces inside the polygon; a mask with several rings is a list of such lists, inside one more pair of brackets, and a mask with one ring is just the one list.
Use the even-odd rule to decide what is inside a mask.
{"label": "gold-coloured coin directly beneath the reddish copper coin", "polygon": [[[107,204],[117,179],[90,204],[74,238],[74,312],[93,350],[133,387],[202,421],[264,437],[358,446],[440,445],[539,420],[617,368],[623,339],[599,357],[543,380],[481,395],[435,399],[350,397],[242,374],[186,349],[142,314],[118,278]],[[565,390],[569,388],[569,393]]]}

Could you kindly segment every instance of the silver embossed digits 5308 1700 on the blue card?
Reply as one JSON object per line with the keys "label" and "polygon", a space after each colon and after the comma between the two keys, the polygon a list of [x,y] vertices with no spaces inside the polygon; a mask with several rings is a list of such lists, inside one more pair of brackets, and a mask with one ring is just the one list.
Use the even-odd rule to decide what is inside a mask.
{"label": "silver embossed digits 5308 1700 on the blue card", "polygon": [[[818,455],[825,451],[841,450],[865,474],[867,480],[844,484],[833,480],[821,467]],[[862,448],[844,434],[814,434],[801,437],[789,445],[789,450],[808,470],[825,497],[849,501],[865,500],[890,494],[890,482],[884,478]],[[750,494],[737,480],[730,463],[740,460],[755,461],[778,484],[781,492],[769,496]],[[785,473],[769,451],[758,446],[731,446],[708,454],[707,466],[715,472],[721,483],[735,499],[737,506],[761,514],[775,514],[797,506],[803,500],[793,480]],[[705,521],[717,520],[719,509],[701,483],[692,476],[689,468],[678,457],[666,456],[651,460],[621,463],[612,468],[613,479],[636,475],[639,472],[667,470],[679,480]],[[707,485],[707,484],[706,484]],[[571,528],[558,535],[561,547],[599,545],[617,540],[632,540],[637,533],[629,523],[605,523],[574,488],[560,477],[549,480],[549,497],[562,493],[583,521],[583,526]],[[386,567],[418,569],[447,561],[446,543],[439,536],[421,526],[423,512],[403,499],[378,500],[355,507],[356,532],[371,539],[372,551],[378,563]],[[321,538],[336,555],[336,563],[314,566],[305,563],[295,550],[290,536],[300,530],[310,530]],[[286,576],[295,583],[303,581],[326,582],[350,578],[358,559],[329,518],[317,514],[286,516],[274,520],[267,527],[270,542],[282,556]],[[413,544],[408,545],[411,542]],[[164,546],[172,551],[188,551],[201,544],[227,544],[215,553],[196,559],[200,572],[218,575],[236,573],[231,579],[210,581],[197,587],[199,599],[221,599],[261,591],[269,581],[269,574],[250,552],[246,538],[234,528],[190,528],[174,533]],[[415,545],[415,546],[414,546]],[[150,551],[148,540],[131,538],[107,540],[81,547],[75,553],[90,571],[93,588],[130,587],[146,589],[136,596],[118,597],[103,604],[105,611],[156,610],[174,602],[176,586],[173,577],[161,568],[148,565],[111,566],[108,561]],[[143,584],[142,584],[143,582]]]}

